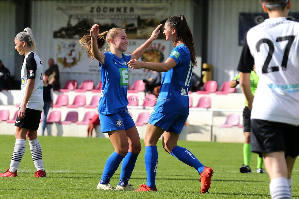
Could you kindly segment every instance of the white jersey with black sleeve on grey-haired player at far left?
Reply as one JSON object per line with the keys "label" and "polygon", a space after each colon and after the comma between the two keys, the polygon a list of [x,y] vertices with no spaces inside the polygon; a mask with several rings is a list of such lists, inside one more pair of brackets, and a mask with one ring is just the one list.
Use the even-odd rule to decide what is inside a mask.
{"label": "white jersey with black sleeve on grey-haired player at far left", "polygon": [[33,51],[25,56],[21,69],[21,104],[25,97],[28,79],[35,79],[35,83],[26,108],[42,111],[44,107],[43,66],[39,56]]}

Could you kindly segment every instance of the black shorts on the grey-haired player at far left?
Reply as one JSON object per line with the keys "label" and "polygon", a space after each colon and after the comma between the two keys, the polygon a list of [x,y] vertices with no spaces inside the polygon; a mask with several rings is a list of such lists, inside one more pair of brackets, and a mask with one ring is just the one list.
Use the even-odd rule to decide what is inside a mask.
{"label": "black shorts on the grey-haired player at far left", "polygon": [[36,131],[40,125],[41,113],[42,111],[26,108],[25,118],[20,119],[19,116],[17,116],[14,126]]}

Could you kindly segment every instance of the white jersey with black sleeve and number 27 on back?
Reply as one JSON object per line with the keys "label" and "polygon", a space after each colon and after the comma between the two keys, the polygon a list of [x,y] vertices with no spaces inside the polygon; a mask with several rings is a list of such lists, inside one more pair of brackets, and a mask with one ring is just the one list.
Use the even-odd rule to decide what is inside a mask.
{"label": "white jersey with black sleeve and number 27 on back", "polygon": [[299,23],[285,17],[251,28],[238,70],[259,76],[252,119],[299,125]]}

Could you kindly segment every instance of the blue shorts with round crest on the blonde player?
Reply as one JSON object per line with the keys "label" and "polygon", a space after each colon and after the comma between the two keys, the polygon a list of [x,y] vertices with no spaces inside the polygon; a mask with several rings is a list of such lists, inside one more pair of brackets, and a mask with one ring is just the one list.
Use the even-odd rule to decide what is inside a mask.
{"label": "blue shorts with round crest on the blonde player", "polygon": [[99,115],[102,133],[108,133],[108,131],[116,130],[128,130],[135,126],[128,109],[114,114]]}

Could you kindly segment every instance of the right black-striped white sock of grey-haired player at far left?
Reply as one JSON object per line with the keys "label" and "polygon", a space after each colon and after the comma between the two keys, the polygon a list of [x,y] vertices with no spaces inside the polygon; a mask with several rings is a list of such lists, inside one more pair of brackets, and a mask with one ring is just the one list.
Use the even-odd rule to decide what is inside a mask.
{"label": "right black-striped white sock of grey-haired player at far left", "polygon": [[42,148],[40,146],[40,141],[38,141],[38,138],[36,138],[35,140],[28,140],[28,141],[29,141],[30,151],[32,155],[32,160],[36,170],[45,171],[44,163],[42,159]]}

